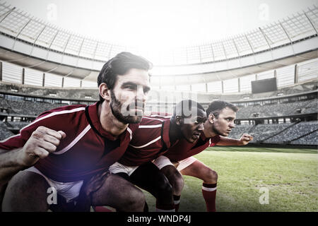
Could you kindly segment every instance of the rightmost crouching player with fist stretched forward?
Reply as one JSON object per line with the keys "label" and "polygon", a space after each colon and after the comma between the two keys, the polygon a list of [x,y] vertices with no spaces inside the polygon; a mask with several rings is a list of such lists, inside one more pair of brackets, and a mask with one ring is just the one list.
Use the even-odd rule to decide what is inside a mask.
{"label": "rightmost crouching player with fist stretched forward", "polygon": [[[158,157],[154,163],[165,172],[165,176],[171,182],[173,172],[169,165],[177,162],[177,169],[182,175],[188,175],[203,180],[202,194],[206,201],[208,212],[216,211],[216,185],[218,174],[203,162],[196,160],[193,155],[201,153],[209,146],[214,145],[246,145],[253,137],[244,133],[238,139],[227,138],[235,127],[234,120],[238,108],[230,102],[216,100],[211,102],[206,109],[208,119],[204,123],[204,131],[195,143],[179,141],[172,146],[165,155]],[[179,181],[175,182],[178,183]],[[178,201],[176,204],[178,205]]]}

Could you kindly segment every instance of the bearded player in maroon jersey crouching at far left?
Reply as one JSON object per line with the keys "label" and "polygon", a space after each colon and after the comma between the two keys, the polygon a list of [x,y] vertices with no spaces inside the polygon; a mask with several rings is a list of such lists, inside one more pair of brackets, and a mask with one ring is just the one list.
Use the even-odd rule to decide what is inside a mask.
{"label": "bearded player in maroon jersey crouching at far left", "polygon": [[[128,52],[107,61],[98,76],[100,101],[59,107],[0,142],[0,181],[8,182],[4,211],[46,211],[49,188],[67,203],[76,201],[83,181],[124,154],[141,121],[151,63]],[[124,113],[123,113],[124,112]],[[24,170],[23,170],[24,169]],[[107,176],[90,193],[94,205],[142,211],[143,193],[117,175]],[[103,177],[104,177],[103,176]]]}

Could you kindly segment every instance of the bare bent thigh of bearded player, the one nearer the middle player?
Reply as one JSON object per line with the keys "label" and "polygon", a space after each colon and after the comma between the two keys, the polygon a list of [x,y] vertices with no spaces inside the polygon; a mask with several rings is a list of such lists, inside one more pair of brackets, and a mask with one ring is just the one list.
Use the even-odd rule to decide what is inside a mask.
{"label": "bare bent thigh of bearded player, the one nearer the middle player", "polygon": [[104,184],[92,194],[93,206],[118,208],[129,203],[144,202],[143,192],[134,184],[116,174],[110,174]]}

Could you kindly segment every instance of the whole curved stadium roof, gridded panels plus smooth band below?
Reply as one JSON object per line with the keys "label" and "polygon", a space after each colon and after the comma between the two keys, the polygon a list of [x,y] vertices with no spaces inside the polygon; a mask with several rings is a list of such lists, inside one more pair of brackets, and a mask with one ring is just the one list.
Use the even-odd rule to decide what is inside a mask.
{"label": "whole curved stadium roof, gridded panels plus smooth band below", "polygon": [[153,62],[153,86],[206,84],[237,79],[316,59],[318,8],[225,40],[153,51],[73,34],[0,3],[0,59],[45,73],[96,81],[119,52]]}

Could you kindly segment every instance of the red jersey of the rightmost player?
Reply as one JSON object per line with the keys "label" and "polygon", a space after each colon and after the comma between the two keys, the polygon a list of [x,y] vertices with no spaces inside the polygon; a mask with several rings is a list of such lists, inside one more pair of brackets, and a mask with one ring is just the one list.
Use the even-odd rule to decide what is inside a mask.
{"label": "red jersey of the rightmost player", "polygon": [[182,139],[175,145],[172,145],[165,153],[165,156],[172,161],[181,161],[187,157],[201,153],[201,151],[208,147],[213,147],[218,141],[220,141],[220,136],[218,135],[212,138],[206,138],[204,133],[201,133],[200,138],[195,143],[189,143]]}

